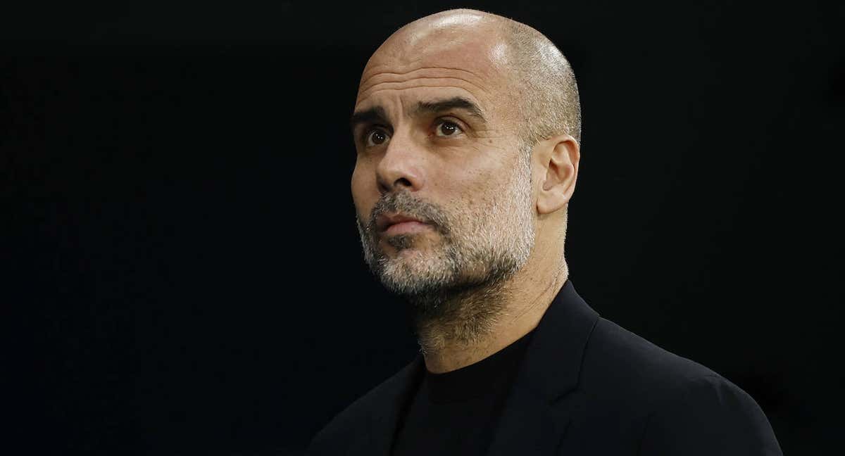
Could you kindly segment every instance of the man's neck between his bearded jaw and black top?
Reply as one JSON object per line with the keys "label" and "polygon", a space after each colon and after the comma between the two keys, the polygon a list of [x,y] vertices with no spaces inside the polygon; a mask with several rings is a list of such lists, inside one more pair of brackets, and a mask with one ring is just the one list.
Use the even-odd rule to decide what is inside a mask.
{"label": "man's neck between his bearded jaw and black top", "polygon": [[[548,271],[548,269],[546,269]],[[542,280],[532,262],[498,283],[418,298],[414,326],[429,372],[450,372],[493,355],[537,327],[569,277],[566,263]]]}

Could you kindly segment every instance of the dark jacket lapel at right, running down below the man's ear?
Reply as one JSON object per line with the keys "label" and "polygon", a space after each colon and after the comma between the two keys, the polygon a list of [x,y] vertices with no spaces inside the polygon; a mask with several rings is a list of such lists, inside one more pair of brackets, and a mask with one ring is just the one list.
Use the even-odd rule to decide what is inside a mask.
{"label": "dark jacket lapel at right, running down below the man's ear", "polygon": [[567,280],[543,315],[488,454],[553,454],[577,413],[581,358],[598,314]]}

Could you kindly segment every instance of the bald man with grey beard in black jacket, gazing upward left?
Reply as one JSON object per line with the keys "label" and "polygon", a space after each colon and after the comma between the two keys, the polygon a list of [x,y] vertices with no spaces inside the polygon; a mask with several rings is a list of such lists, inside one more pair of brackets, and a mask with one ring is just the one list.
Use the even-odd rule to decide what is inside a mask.
{"label": "bald man with grey beard in black jacket, gazing upward left", "polygon": [[373,54],[352,196],[364,258],[409,302],[422,353],[311,453],[781,453],[748,394],[575,293],[580,124],[569,63],[525,24],[451,10]]}

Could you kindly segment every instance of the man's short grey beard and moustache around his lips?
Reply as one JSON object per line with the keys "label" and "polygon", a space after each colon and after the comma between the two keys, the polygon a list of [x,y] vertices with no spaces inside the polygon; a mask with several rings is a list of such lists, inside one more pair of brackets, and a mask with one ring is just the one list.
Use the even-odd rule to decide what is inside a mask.
{"label": "man's short grey beard and moustache around his lips", "polygon": [[[446,339],[472,342],[487,334],[502,314],[508,301],[504,285],[525,265],[534,245],[531,184],[525,181],[530,179],[528,156],[521,158],[501,198],[489,200],[476,214],[463,213],[460,220],[407,191],[382,195],[366,225],[357,219],[364,260],[385,288],[411,304],[423,351]],[[384,212],[428,223],[439,244],[421,252],[418,261],[388,258],[375,228],[376,217]],[[399,255],[414,247],[415,235],[390,236],[384,242]]]}

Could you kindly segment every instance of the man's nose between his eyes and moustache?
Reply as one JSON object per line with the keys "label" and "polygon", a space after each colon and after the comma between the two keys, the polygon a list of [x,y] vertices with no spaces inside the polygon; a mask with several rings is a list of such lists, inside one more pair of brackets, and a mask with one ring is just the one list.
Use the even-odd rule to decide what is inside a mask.
{"label": "man's nose between his eyes and moustache", "polygon": [[395,133],[376,166],[379,193],[416,192],[423,187],[423,149],[406,134]]}

